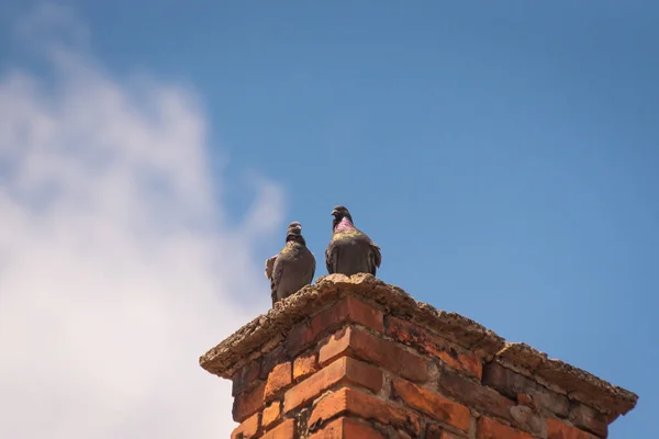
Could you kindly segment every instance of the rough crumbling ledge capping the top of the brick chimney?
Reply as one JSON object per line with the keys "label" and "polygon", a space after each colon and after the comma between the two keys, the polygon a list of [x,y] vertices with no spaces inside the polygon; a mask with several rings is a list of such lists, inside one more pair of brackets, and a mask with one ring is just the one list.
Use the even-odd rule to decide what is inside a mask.
{"label": "rough crumbling ledge capping the top of the brick chimney", "polygon": [[636,406],[638,395],[557,359],[524,342],[509,342],[494,331],[457,313],[416,302],[402,289],[371,274],[330,274],[278,302],[200,357],[208,372],[232,379],[255,357],[276,348],[298,324],[346,296],[366,299],[390,315],[412,320],[462,348],[478,352],[483,362],[494,361],[540,382],[563,389],[568,397],[594,406],[612,417]]}

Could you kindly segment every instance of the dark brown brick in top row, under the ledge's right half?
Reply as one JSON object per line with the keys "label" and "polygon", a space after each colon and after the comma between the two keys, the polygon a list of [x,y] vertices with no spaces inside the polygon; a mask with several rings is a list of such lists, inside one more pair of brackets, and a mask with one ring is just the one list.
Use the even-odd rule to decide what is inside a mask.
{"label": "dark brown brick in top row, under the ledge's right half", "polygon": [[568,416],[570,403],[567,397],[551,392],[535,381],[494,361],[485,364],[483,369],[483,384],[495,389],[510,398],[515,398],[521,393],[528,394],[540,407],[561,417]]}

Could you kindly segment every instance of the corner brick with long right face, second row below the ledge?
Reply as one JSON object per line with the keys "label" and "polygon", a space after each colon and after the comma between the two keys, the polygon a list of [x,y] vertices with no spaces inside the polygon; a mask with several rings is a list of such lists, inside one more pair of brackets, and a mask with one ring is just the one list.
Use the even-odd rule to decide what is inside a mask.
{"label": "corner brick with long right face, second row below the ledge", "polygon": [[424,382],[428,379],[426,360],[364,328],[350,326],[334,334],[321,348],[319,361],[324,365],[342,356],[370,361],[407,380]]}

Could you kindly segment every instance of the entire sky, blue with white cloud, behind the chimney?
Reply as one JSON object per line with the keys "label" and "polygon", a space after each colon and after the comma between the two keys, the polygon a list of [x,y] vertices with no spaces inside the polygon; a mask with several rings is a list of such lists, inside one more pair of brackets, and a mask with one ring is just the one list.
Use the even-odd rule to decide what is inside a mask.
{"label": "entire sky, blue with white cloud, behind the chimney", "polygon": [[0,3],[0,436],[217,438],[198,357],[297,219],[640,395],[659,384],[659,7]]}

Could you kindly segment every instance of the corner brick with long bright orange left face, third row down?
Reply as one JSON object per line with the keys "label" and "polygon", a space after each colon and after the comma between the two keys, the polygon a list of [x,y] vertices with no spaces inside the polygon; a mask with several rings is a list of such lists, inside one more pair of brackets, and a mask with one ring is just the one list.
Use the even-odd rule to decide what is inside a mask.
{"label": "corner brick with long bright orange left face, third row down", "polygon": [[377,393],[382,389],[382,371],[354,358],[339,358],[286,392],[283,410],[290,412],[312,401],[339,382],[360,385]]}

